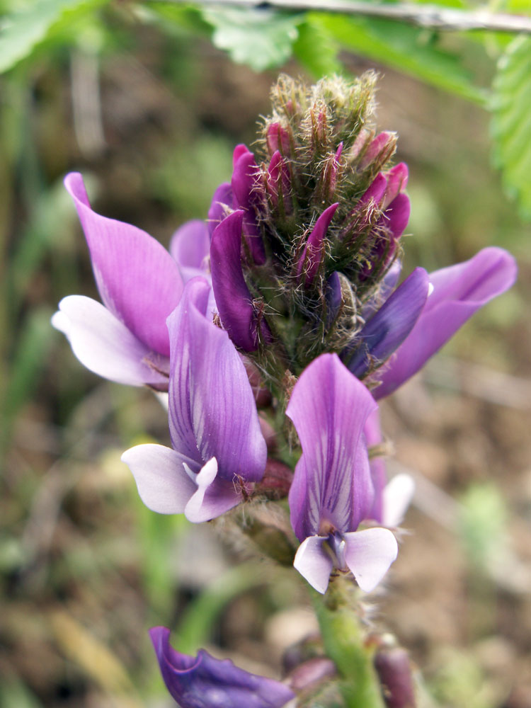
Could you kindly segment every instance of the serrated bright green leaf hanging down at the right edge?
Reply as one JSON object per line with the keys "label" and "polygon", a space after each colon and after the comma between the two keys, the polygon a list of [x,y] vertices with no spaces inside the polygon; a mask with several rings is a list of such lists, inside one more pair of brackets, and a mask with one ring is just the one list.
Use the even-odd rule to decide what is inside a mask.
{"label": "serrated bright green leaf hanging down at the right edge", "polygon": [[520,35],[498,62],[493,81],[493,160],[503,187],[531,220],[531,38]]}

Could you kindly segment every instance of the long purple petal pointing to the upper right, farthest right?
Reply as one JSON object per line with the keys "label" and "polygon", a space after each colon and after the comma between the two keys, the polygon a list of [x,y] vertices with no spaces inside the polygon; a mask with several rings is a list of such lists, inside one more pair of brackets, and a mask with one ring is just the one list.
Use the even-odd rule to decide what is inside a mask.
{"label": "long purple petal pointing to the upper right, farthest right", "polygon": [[430,274],[434,290],[421,316],[389,364],[379,372],[375,396],[388,396],[440,349],[476,310],[515,282],[510,253],[490,246],[474,258]]}

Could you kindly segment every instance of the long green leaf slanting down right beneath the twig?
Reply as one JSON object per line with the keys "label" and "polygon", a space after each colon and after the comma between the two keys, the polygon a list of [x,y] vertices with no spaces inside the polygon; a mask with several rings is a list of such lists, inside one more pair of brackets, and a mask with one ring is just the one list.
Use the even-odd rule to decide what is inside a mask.
{"label": "long green leaf slanting down right beneath the twig", "polygon": [[312,13],[338,42],[354,52],[399,69],[474,103],[486,101],[486,91],[474,86],[458,57],[441,50],[433,33],[380,18]]}

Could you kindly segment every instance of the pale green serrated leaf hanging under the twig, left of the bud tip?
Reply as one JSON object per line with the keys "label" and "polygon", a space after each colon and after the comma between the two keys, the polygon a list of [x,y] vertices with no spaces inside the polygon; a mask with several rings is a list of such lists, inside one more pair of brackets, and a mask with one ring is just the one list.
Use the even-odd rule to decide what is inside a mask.
{"label": "pale green serrated leaf hanging under the twig, left of the bud tip", "polygon": [[292,54],[302,14],[241,8],[205,9],[205,20],[214,28],[212,42],[227,50],[238,64],[256,72],[278,67]]}

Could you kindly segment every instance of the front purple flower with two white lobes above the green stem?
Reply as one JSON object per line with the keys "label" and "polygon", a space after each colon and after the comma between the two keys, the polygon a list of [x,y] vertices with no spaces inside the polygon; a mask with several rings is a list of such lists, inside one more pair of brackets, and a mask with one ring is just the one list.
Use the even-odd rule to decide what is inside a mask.
{"label": "front purple flower with two white lobes above the green stem", "polygon": [[377,404],[335,354],[323,354],[300,376],[286,414],[302,457],[289,494],[292,527],[301,542],[295,568],[320,593],[335,565],[370,591],[396,558],[384,528],[357,531],[374,502],[363,428]]}

